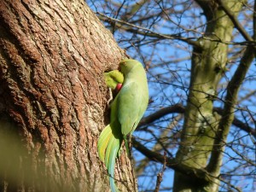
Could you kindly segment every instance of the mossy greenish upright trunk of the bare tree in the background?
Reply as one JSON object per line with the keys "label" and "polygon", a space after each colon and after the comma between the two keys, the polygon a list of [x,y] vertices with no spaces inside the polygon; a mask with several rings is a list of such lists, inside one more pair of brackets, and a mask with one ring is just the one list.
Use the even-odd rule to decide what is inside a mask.
{"label": "mossy greenish upright trunk of the bare tree in the background", "polygon": [[[219,40],[229,42],[234,30],[229,16],[214,2],[197,1],[203,10],[208,10],[206,14],[209,22],[205,35],[198,40],[201,48],[194,49],[192,55],[188,105],[185,109],[183,136],[176,157],[177,163],[189,166],[192,170],[206,168],[206,172],[207,160],[212,152],[218,128],[218,114],[213,113],[212,102],[218,92],[218,82],[224,74],[228,53],[228,44],[219,43]],[[230,0],[224,3],[234,15],[241,10],[240,1]],[[217,178],[221,161],[215,161],[215,166],[219,167],[216,172],[208,172],[207,180],[205,177],[191,178],[175,172],[173,191],[218,191]]]}

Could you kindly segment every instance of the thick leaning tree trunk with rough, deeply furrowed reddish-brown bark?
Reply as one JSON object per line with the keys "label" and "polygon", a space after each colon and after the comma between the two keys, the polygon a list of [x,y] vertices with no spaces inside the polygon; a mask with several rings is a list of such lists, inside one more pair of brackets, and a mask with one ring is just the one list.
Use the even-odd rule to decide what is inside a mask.
{"label": "thick leaning tree trunk with rough, deeply furrowed reddish-brown bark", "polygon": [[[107,191],[102,73],[125,53],[84,0],[2,0],[0,20],[0,190]],[[115,176],[136,191],[124,154]]]}

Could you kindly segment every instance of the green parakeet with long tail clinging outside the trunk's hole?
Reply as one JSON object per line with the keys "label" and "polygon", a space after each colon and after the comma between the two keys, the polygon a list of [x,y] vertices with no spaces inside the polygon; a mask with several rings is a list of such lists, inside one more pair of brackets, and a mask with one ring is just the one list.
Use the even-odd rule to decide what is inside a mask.
{"label": "green parakeet with long tail clinging outside the trunk's hole", "polygon": [[115,158],[123,141],[127,146],[126,136],[136,129],[148,107],[148,83],[143,65],[127,59],[120,61],[119,67],[124,83],[111,103],[110,124],[103,129],[97,143],[99,157],[108,168],[112,192],[118,191],[113,178]]}

